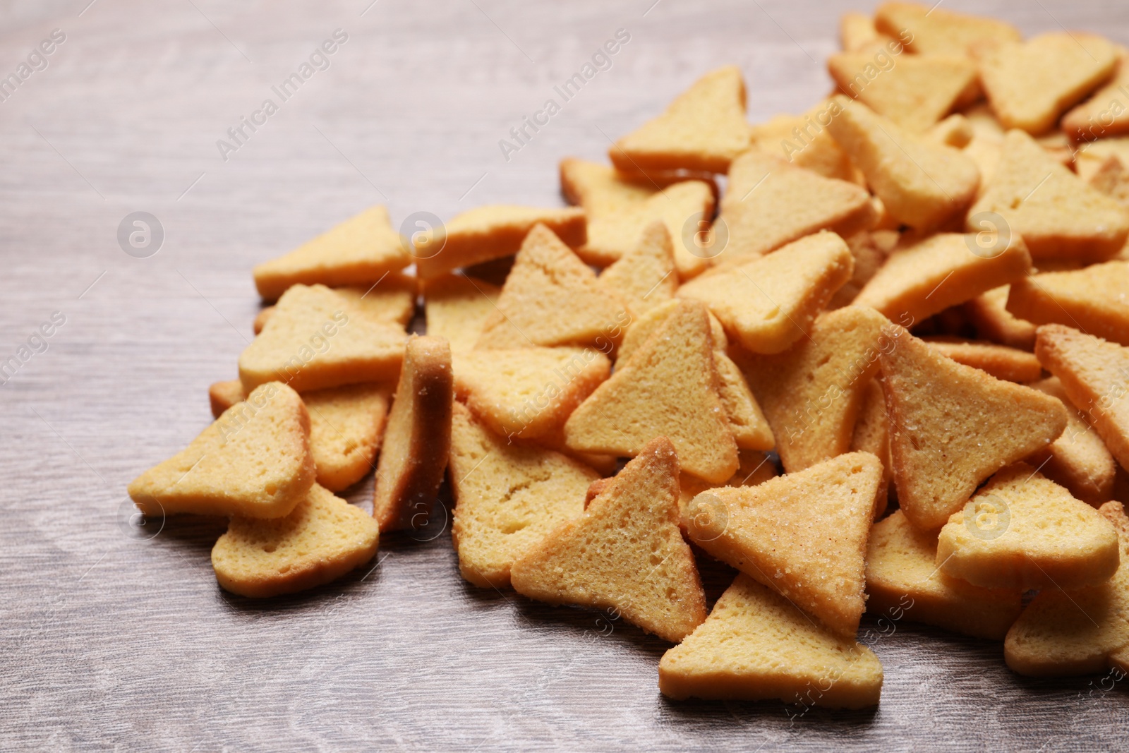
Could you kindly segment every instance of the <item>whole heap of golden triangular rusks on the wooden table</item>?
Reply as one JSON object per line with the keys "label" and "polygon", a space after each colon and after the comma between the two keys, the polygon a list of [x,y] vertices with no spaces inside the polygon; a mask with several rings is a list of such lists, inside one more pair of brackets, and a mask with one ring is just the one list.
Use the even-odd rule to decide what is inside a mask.
{"label": "whole heap of golden triangular rusks on the wooden table", "polygon": [[[875,704],[867,610],[1129,669],[1129,52],[900,2],[842,44],[806,114],[750,126],[724,68],[563,160],[572,208],[409,244],[377,207],[256,266],[216,422],[130,494],[230,516],[219,584],[265,597],[446,473],[466,580],[675,643],[672,698]],[[369,516],[334,492],[374,467]]]}

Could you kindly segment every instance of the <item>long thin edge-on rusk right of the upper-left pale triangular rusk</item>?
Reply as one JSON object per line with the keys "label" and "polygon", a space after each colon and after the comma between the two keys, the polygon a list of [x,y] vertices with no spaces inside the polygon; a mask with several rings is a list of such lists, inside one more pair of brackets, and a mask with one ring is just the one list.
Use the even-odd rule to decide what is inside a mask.
{"label": "long thin edge-on rusk right of the upper-left pale triangular rusk", "polygon": [[476,207],[450,218],[445,226],[413,238],[415,269],[431,280],[462,266],[516,254],[537,225],[576,248],[587,238],[584,210],[577,207],[542,209],[509,204]]}

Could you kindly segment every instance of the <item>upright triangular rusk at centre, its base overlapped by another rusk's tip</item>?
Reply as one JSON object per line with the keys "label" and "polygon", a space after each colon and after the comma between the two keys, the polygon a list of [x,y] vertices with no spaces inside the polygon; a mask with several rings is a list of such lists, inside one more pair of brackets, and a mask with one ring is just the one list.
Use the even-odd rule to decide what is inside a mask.
{"label": "upright triangular rusk at centre, its base overlapped by another rusk's tip", "polygon": [[706,307],[681,301],[630,361],[572,412],[564,443],[630,457],[666,436],[683,470],[725,481],[737,470],[737,445],[718,399],[712,350]]}

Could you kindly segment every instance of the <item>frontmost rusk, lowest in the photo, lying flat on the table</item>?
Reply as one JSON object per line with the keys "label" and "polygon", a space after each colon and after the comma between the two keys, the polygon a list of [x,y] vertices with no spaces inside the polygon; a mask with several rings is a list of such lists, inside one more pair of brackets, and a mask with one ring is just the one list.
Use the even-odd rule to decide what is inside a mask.
{"label": "frontmost rusk, lowest in the photo, lying flat on the table", "polygon": [[859,709],[877,706],[882,664],[866,646],[816,625],[741,573],[706,622],[663,655],[658,689],[677,700],[780,699]]}

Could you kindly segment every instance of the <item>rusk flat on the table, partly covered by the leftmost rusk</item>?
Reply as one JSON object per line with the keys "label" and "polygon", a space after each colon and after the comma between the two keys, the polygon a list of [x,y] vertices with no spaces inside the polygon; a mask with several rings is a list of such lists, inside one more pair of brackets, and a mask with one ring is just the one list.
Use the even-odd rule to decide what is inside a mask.
{"label": "rusk flat on the table, partly covered by the leftmost rusk", "polygon": [[316,483],[282,518],[236,516],[212,548],[216,580],[251,598],[336,580],[376,554],[379,528],[359,507]]}

